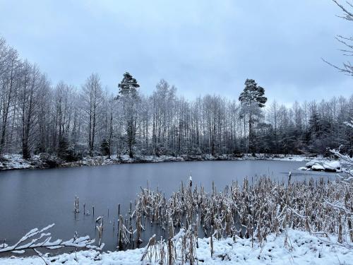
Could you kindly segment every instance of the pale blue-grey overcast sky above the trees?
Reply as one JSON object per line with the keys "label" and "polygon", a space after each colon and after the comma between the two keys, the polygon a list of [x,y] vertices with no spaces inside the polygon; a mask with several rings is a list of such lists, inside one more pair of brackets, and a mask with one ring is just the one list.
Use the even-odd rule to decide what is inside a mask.
{"label": "pale blue-grey overcast sky above the trees", "polygon": [[330,0],[0,0],[0,35],[52,83],[90,73],[117,93],[125,71],[150,94],[160,78],[186,98],[237,98],[246,78],[269,100],[349,96],[335,35],[352,33]]}

